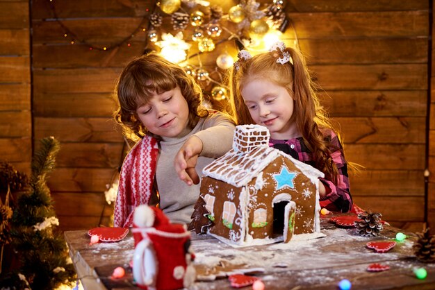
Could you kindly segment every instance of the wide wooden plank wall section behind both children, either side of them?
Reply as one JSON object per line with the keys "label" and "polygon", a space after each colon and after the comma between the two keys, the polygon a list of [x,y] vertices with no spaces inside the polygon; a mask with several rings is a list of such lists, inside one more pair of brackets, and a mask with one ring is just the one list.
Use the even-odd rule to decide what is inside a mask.
{"label": "wide wooden plank wall section behind both children, either side of them", "polygon": [[[230,2],[224,9],[236,3]],[[142,53],[146,35],[137,33],[130,46],[110,51],[90,50],[89,44],[119,43],[154,1],[54,5],[60,23],[49,0],[32,1],[34,139],[54,135],[62,144],[49,182],[60,228],[90,228],[109,223],[112,209],[105,206],[104,190],[121,158],[110,95],[125,63]],[[325,89],[322,102],[341,125],[347,158],[366,167],[351,178],[354,201],[393,225],[420,230],[429,1],[288,0],[286,13],[295,32],[288,28],[284,38],[292,42],[296,33]],[[74,44],[62,26],[74,32]],[[203,56],[204,65],[212,65],[219,53]]]}

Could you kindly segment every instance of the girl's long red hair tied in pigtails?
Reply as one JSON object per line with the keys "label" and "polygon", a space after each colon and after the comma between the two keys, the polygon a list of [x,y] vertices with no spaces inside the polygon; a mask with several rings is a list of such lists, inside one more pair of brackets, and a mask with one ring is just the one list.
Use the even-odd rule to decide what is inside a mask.
{"label": "girl's long red hair tied in pigtails", "polygon": [[230,76],[231,111],[238,125],[254,123],[240,93],[243,86],[252,80],[265,79],[285,87],[295,100],[295,110],[290,121],[296,123],[304,144],[313,153],[315,167],[325,173],[327,179],[337,183],[338,169],[331,157],[331,144],[321,131],[324,128],[334,130],[331,121],[315,94],[315,86],[304,58],[295,49],[288,48],[286,51],[290,53],[293,64],[277,63],[277,58],[272,53],[261,53],[249,60],[240,60],[238,69],[233,69]]}

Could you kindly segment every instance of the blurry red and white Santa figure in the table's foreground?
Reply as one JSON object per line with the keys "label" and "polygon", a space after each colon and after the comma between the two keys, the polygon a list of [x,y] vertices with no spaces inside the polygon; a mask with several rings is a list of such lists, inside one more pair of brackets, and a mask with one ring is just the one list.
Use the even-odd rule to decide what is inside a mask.
{"label": "blurry red and white Santa figure in the table's foreground", "polygon": [[190,232],[170,223],[157,207],[139,205],[133,215],[133,278],[142,289],[171,290],[195,282]]}

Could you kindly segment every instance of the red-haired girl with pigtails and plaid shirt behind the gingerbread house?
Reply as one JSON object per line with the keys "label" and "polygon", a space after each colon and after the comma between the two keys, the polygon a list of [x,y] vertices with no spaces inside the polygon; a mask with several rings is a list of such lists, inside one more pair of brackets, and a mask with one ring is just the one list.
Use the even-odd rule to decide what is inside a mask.
{"label": "red-haired girl with pigtails and plaid shirt behind the gingerbread house", "polygon": [[267,127],[270,146],[325,173],[320,179],[320,205],[350,211],[343,147],[320,107],[302,56],[282,42],[253,58],[240,51],[231,83],[236,122]]}

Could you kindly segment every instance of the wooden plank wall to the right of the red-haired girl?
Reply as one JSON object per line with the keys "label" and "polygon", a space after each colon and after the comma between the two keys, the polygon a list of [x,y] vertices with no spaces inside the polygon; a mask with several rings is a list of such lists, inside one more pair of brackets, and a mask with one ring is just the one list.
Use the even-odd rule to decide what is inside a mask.
{"label": "wooden plank wall to the right of the red-haired girl", "polygon": [[[323,104],[338,121],[354,202],[421,230],[429,1],[288,1]],[[294,9],[292,9],[294,8]]]}

